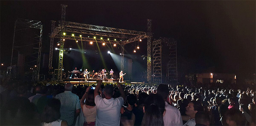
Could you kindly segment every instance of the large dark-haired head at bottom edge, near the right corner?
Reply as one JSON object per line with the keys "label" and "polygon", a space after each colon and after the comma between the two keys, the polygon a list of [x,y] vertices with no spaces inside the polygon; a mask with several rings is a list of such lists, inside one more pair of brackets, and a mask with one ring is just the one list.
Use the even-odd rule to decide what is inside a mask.
{"label": "large dark-haired head at bottom edge, near the right corner", "polygon": [[245,124],[245,118],[237,109],[230,109],[226,112],[226,123],[228,126],[242,126]]}

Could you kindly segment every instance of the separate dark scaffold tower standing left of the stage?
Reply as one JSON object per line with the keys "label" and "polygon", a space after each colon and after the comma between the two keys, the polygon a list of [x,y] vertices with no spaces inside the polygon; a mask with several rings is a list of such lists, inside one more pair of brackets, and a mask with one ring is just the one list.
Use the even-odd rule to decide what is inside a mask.
{"label": "separate dark scaffold tower standing left of the stage", "polygon": [[[14,26],[12,57],[8,75],[24,78],[24,71],[38,80],[42,47],[43,25],[41,21],[17,19]],[[12,69],[13,68],[13,69]]]}

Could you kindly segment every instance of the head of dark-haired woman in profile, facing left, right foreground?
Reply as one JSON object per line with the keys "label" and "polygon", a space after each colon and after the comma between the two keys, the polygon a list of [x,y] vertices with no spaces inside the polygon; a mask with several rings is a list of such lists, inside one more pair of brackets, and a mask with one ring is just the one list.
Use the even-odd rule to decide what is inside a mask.
{"label": "head of dark-haired woman in profile, facing left, right foreground", "polygon": [[188,106],[186,107],[185,114],[190,116],[191,118],[194,118],[198,111],[203,111],[203,110],[204,110],[204,108],[203,108],[202,104],[200,104],[196,100],[192,100],[188,103]]}

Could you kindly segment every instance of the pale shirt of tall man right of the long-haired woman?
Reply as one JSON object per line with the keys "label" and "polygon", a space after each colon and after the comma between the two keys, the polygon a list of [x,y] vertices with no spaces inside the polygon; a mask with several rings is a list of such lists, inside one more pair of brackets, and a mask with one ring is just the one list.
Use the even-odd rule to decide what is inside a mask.
{"label": "pale shirt of tall man right of the long-haired woman", "polygon": [[182,126],[182,118],[178,108],[169,105],[165,101],[164,126]]}

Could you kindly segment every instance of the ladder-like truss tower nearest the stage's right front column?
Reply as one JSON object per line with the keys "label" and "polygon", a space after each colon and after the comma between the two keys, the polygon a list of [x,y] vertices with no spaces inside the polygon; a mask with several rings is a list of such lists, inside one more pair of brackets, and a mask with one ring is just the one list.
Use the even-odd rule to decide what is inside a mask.
{"label": "ladder-like truss tower nearest the stage's right front column", "polygon": [[161,40],[153,41],[153,83],[162,83]]}

